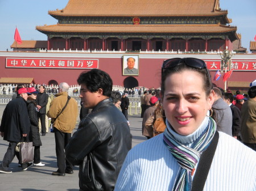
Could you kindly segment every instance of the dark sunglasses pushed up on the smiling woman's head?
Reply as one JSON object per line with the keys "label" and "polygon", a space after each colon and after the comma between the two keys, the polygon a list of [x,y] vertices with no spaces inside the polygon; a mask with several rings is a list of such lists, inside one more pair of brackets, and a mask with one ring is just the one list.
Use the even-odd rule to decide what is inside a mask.
{"label": "dark sunglasses pushed up on the smiling woman's head", "polygon": [[[190,67],[195,67],[197,69],[207,69],[206,63],[203,60],[200,60],[198,58],[171,58],[163,62],[162,73],[164,70],[171,69],[172,67],[180,65],[181,63],[185,63],[185,65]],[[208,70],[207,70],[207,76],[208,76],[209,82],[211,83],[212,80],[210,79],[210,74]]]}

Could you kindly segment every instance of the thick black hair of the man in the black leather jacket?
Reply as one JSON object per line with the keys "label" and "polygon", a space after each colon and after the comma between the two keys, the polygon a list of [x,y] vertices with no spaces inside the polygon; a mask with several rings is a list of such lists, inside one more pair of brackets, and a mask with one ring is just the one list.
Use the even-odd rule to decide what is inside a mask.
{"label": "thick black hair of the man in the black leather jacket", "polygon": [[113,82],[109,74],[99,69],[92,69],[79,75],[77,83],[85,84],[90,92],[96,92],[98,89],[103,90],[103,95],[110,97]]}

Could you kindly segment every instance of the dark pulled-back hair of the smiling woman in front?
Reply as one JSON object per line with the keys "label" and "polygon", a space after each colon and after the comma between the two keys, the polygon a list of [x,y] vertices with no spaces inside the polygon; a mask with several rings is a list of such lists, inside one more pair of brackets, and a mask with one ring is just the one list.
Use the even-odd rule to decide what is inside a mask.
{"label": "dark pulled-back hair of the smiling woman in front", "polygon": [[207,69],[198,69],[196,67],[190,67],[182,62],[177,66],[162,70],[161,92],[163,96],[165,91],[164,82],[166,81],[166,78],[171,74],[181,73],[184,70],[196,71],[197,73],[201,74],[201,76],[203,77],[205,93],[207,96],[210,95],[210,91],[212,90],[212,82],[210,82],[210,79],[208,79]]}

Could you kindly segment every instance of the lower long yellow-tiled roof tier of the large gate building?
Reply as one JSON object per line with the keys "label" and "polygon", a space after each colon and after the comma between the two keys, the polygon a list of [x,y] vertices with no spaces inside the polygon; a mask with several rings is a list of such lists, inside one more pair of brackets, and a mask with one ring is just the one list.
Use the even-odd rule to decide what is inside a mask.
{"label": "lower long yellow-tiled roof tier of the large gate building", "polygon": [[237,27],[221,24],[56,24],[36,26],[40,32],[94,32],[94,33],[226,33],[236,32]]}

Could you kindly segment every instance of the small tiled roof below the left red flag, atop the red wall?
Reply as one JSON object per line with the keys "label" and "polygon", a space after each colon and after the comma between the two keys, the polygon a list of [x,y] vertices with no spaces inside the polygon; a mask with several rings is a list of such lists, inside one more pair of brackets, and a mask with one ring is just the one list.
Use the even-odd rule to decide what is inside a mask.
{"label": "small tiled roof below the left red flag, atop the red wall", "polygon": [[22,40],[22,44],[13,42],[11,48],[47,48],[47,40]]}

